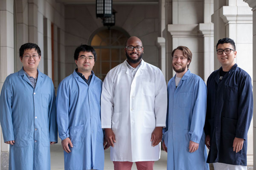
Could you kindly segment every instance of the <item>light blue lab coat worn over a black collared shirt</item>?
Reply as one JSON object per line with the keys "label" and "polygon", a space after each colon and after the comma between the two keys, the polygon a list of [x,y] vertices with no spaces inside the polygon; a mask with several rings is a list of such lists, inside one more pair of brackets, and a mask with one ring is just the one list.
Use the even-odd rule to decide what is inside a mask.
{"label": "light blue lab coat worn over a black collared shirt", "polygon": [[100,121],[102,81],[93,74],[90,85],[76,73],[58,87],[56,105],[61,140],[69,137],[71,152],[64,151],[65,170],[103,170],[103,130]]}

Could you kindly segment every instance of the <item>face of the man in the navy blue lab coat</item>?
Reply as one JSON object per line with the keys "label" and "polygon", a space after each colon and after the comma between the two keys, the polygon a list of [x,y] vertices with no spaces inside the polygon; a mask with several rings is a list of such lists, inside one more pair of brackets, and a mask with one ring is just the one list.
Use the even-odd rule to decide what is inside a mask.
{"label": "face of the man in the navy blue lab coat", "polygon": [[[217,51],[220,49],[225,50],[227,48],[233,49],[233,45],[231,45],[230,43],[219,44],[217,47]],[[224,51],[222,54],[217,53],[217,58],[218,58],[218,61],[221,63],[222,67],[234,65],[235,58],[236,58],[236,51],[231,50],[230,54],[226,54]]]}

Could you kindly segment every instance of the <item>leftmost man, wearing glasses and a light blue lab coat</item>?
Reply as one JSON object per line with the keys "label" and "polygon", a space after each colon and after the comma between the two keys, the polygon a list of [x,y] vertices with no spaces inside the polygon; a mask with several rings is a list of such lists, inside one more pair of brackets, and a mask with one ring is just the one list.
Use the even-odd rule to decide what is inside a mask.
{"label": "leftmost man, wearing glasses and a light blue lab coat", "polygon": [[50,144],[58,141],[52,80],[37,67],[41,50],[20,47],[23,68],[10,74],[0,95],[4,142],[10,144],[9,170],[50,170]]}

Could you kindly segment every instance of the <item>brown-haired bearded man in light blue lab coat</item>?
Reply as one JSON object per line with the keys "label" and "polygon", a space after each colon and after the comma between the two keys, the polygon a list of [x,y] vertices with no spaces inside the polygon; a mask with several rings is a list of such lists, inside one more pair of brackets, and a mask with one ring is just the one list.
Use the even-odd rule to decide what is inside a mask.
{"label": "brown-haired bearded man in light blue lab coat", "polygon": [[168,153],[167,170],[208,170],[204,145],[207,88],[189,71],[192,52],[185,46],[172,51],[176,72],[168,83],[168,110],[163,129],[163,149]]}

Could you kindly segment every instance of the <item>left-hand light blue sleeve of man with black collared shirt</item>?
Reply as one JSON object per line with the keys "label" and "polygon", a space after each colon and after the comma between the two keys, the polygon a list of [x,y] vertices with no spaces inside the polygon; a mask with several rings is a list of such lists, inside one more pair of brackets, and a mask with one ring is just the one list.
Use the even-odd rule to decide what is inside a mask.
{"label": "left-hand light blue sleeve of man with black collared shirt", "polygon": [[61,140],[69,137],[69,88],[65,84],[60,83],[56,98],[58,133]]}

